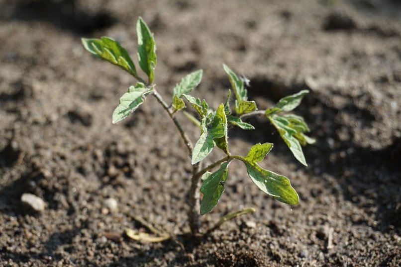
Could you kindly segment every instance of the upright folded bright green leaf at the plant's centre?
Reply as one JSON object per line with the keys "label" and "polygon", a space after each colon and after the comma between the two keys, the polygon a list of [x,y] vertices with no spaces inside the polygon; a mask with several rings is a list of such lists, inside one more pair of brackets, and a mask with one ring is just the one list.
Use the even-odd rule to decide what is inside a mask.
{"label": "upright folded bright green leaf at the plant's centre", "polygon": [[227,143],[227,118],[225,115],[224,105],[220,104],[214,115],[210,133],[213,135],[214,141],[218,148],[228,154]]}

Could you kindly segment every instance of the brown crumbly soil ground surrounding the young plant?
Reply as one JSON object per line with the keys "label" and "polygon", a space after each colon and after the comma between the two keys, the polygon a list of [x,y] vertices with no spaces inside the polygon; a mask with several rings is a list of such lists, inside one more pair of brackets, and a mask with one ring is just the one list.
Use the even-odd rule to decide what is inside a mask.
{"label": "brown crumbly soil ground surrounding the young plant", "polygon": [[[400,266],[400,1],[0,0],[0,10],[0,266]],[[216,108],[229,86],[222,63],[251,80],[260,108],[311,91],[295,110],[317,139],[304,148],[308,167],[266,120],[229,138],[242,154],[274,142],[262,165],[290,178],[299,205],[264,195],[233,162],[202,224],[257,211],[189,235],[191,165],[177,130],[152,97],[112,125],[134,80],[80,43],[107,35],[136,58],[139,15],[155,33],[155,80],[167,100],[202,68],[195,94]],[[196,141],[199,130],[185,129]],[[23,193],[45,210],[24,207]],[[130,212],[176,240],[120,235],[144,230]]]}

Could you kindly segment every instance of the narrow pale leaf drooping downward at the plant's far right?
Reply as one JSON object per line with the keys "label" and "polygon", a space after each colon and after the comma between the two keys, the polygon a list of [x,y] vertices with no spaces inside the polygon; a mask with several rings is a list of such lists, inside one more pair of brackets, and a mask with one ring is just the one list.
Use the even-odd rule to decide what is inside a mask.
{"label": "narrow pale leaf drooping downward at the plant's far right", "polygon": [[298,139],[296,138],[297,131],[291,128],[291,123],[282,116],[274,115],[267,117],[273,126],[279,131],[281,138],[286,142],[291,152],[299,162],[307,166],[305,156],[302,152],[302,147]]}

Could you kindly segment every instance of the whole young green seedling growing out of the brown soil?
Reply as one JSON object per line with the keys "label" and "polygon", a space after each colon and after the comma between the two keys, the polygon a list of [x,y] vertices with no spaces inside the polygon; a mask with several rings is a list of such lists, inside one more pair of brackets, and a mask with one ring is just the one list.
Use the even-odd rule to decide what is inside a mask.
{"label": "whole young green seedling growing out of the brown soil", "polygon": [[[253,130],[254,127],[246,123],[245,120],[252,116],[264,116],[278,130],[296,159],[306,166],[301,145],[313,143],[314,140],[305,135],[305,133],[309,132],[309,128],[302,117],[288,114],[287,112],[294,110],[300,105],[302,98],[308,91],[302,90],[297,94],[282,98],[271,108],[258,110],[256,103],[248,100],[247,89],[245,88],[246,81],[238,77],[228,66],[223,65],[223,70],[227,74],[234,92],[235,102],[233,110],[229,104],[231,99],[230,89],[228,90],[225,102],[221,103],[215,110],[204,99],[195,98],[191,95],[191,92],[200,84],[202,78],[201,69],[191,72],[174,87],[171,104],[167,104],[157,92],[155,84],[153,84],[155,67],[157,65],[154,36],[140,17],[136,27],[138,35],[138,65],[147,75],[147,80],[139,76],[134,62],[129,57],[127,51],[117,41],[108,37],[101,37],[100,39],[83,38],[82,44],[86,50],[96,57],[121,67],[137,80],[137,83],[130,86],[128,91],[121,96],[119,104],[112,114],[113,124],[127,118],[151,95],[162,105],[177,127],[191,155],[191,164],[193,166],[189,192],[190,200],[188,202],[190,206],[188,220],[192,233],[200,233],[199,216],[210,212],[223,194],[227,182],[228,166],[232,160],[239,160],[244,163],[250,179],[265,194],[290,205],[298,204],[299,197],[291,186],[290,180],[283,175],[266,170],[258,164],[270,152],[273,144],[257,143],[249,149],[249,152],[245,156],[231,154],[227,132],[230,129],[229,126],[239,127],[243,130]],[[175,117],[178,112],[186,108],[184,100],[192,106],[198,117],[195,118],[184,111],[184,115],[200,128],[200,137],[195,145],[193,145]],[[226,156],[201,168],[202,161],[215,147],[221,149]],[[209,172],[217,167],[218,169],[214,172]],[[201,200],[200,193],[203,195]],[[215,229],[225,220],[251,211],[253,209],[248,208],[229,213],[223,216],[209,230]],[[143,223],[145,224],[145,222]],[[156,230],[153,232],[156,233]],[[135,238],[140,239],[137,235]],[[160,239],[163,238],[157,240],[160,241]]]}

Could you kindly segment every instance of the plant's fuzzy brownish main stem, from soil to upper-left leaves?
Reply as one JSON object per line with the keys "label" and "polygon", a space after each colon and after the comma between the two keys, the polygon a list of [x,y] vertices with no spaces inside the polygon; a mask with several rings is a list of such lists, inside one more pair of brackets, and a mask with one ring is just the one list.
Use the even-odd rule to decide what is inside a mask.
{"label": "plant's fuzzy brownish main stem, from soil to upper-left leaves", "polygon": [[[167,111],[170,118],[173,120],[174,124],[176,125],[178,131],[183,138],[185,145],[187,146],[188,152],[190,157],[192,156],[192,150],[194,146],[188,137],[187,133],[185,133],[184,129],[181,127],[181,124],[178,122],[176,117],[174,117],[174,112],[170,110],[169,105],[163,100],[162,96],[156,91],[153,90],[153,95],[156,97],[157,101],[163,106],[163,108]],[[190,223],[191,232],[194,235],[199,235],[200,233],[200,176],[197,174],[200,172],[201,165],[197,163],[192,166],[192,178],[191,178],[191,187],[189,191],[189,206],[190,209],[188,211],[188,221]]]}

